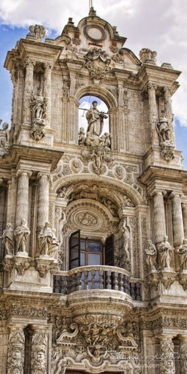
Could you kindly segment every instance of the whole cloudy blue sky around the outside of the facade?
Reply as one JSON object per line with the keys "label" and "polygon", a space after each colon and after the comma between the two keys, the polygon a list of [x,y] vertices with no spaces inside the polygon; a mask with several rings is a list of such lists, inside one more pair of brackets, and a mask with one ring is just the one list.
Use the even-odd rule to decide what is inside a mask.
{"label": "whole cloudy blue sky around the outside of the facade", "polygon": [[[148,13],[150,18],[152,17],[151,10],[149,9],[148,0],[141,0],[142,3],[145,3],[148,8]],[[140,1],[140,2],[141,2]],[[0,3],[0,119],[3,121],[10,122],[11,116],[11,95],[12,95],[12,84],[9,77],[9,72],[3,68],[3,63],[5,60],[5,56],[7,50],[12,49],[15,46],[15,43],[21,37],[25,37],[28,33],[28,25],[32,23],[42,23],[47,26],[49,30],[50,37],[54,38],[61,33],[63,26],[67,23],[68,16],[74,16],[75,24],[82,18],[83,16],[87,15],[87,10],[83,12],[76,8],[74,10],[73,5],[71,9],[65,10],[65,15],[63,13],[63,6],[62,12],[57,14],[57,10],[54,9],[54,14],[51,13],[51,8],[48,5],[52,4],[53,2],[58,3],[65,3],[66,0],[48,0],[45,8],[45,12],[43,11],[40,13],[40,4],[43,3],[43,0],[33,0],[33,4],[37,5],[36,10],[34,12],[33,7],[29,9],[29,4],[27,8],[24,9],[24,4],[26,5],[27,0],[2,0],[2,5]],[[83,0],[85,2],[85,0]],[[175,124],[176,124],[176,142],[177,142],[177,149],[183,151],[183,156],[185,157],[184,167],[187,169],[187,111],[186,111],[186,101],[187,101],[187,64],[186,64],[186,56],[187,56],[187,42],[185,37],[185,31],[187,31],[186,20],[184,21],[183,13],[185,12],[185,7],[187,10],[187,1],[181,0],[180,4],[184,4],[184,9],[180,8],[180,4],[178,0],[173,0],[173,7],[170,7],[171,1],[165,0],[163,1],[158,0],[157,4],[155,5],[157,8],[155,9],[155,14],[153,14],[154,22],[152,22],[151,31],[148,33],[146,29],[146,22],[145,22],[145,13],[142,15],[142,9],[139,9],[139,14],[137,14],[137,8],[133,8],[134,4],[138,7],[137,0],[121,0],[116,4],[115,0],[107,0],[108,8],[104,7],[103,3],[98,0],[95,0],[96,8],[100,9],[99,15],[105,19],[108,19],[112,24],[119,25],[118,29],[120,34],[123,36],[128,36],[128,41],[126,46],[132,49],[135,54],[138,56],[138,51],[142,47],[151,47],[152,49],[156,49],[158,51],[158,61],[159,65],[166,61],[171,62],[172,65],[177,68],[178,70],[184,71],[184,74],[180,77],[180,84],[181,87],[179,89],[179,93],[177,92],[174,95],[174,114],[175,114]],[[11,6],[8,8],[9,4]],[[22,3],[22,7],[19,9],[18,5]],[[101,5],[102,3],[102,5]],[[5,5],[4,5],[5,4]],[[16,9],[12,10],[13,5],[17,5]],[[86,1],[87,4],[87,1]],[[116,4],[116,5],[115,5]],[[126,4],[125,13],[124,13],[124,5]],[[165,4],[165,5],[164,5]],[[168,6],[166,6],[168,4]],[[176,4],[176,5],[175,5]],[[152,4],[153,5],[153,4]],[[174,5],[176,8],[174,9]],[[32,5],[30,5],[32,6]],[[87,5],[86,5],[87,6]],[[120,8],[121,6],[121,8]],[[159,13],[159,6],[160,10],[162,9],[162,13]],[[76,7],[76,5],[75,5]],[[167,9],[163,16],[163,9]],[[5,11],[5,10],[7,11]],[[21,11],[23,11],[21,14]],[[121,11],[117,13],[117,9]],[[30,15],[32,10],[32,14],[30,18],[28,18],[27,12]],[[176,19],[179,18],[179,22],[174,24],[174,28],[172,28],[172,24],[170,22],[170,15],[171,17],[172,12],[176,11]],[[56,11],[56,13],[55,13]],[[158,11],[158,14],[157,14]],[[108,12],[108,13],[107,13]],[[79,14],[80,13],[80,14]],[[123,16],[123,19],[122,19]],[[25,17],[25,18],[24,18]],[[39,19],[38,19],[39,17]],[[42,17],[44,17],[42,19]],[[141,20],[144,20],[144,24],[142,23],[142,29],[139,29],[137,34],[137,29],[135,24],[138,24]],[[158,17],[158,19],[157,19]],[[164,17],[162,19],[162,17]],[[171,18],[172,19],[172,18]],[[186,18],[185,18],[186,19]],[[158,27],[156,21],[158,20]],[[163,23],[162,23],[163,22]],[[168,23],[167,23],[168,22]],[[175,23],[175,22],[174,22]],[[167,29],[168,24],[168,29]],[[159,32],[158,28],[162,29],[162,33]],[[137,25],[138,28],[139,25]],[[148,22],[148,26],[149,22]],[[178,28],[177,28],[178,27]],[[186,27],[186,28],[185,28]],[[164,29],[165,28],[165,29]],[[175,31],[175,33],[174,33]],[[178,31],[178,33],[176,33]],[[163,36],[163,32],[165,32]],[[164,39],[163,39],[164,37]],[[143,40],[141,42],[141,39]]]}

